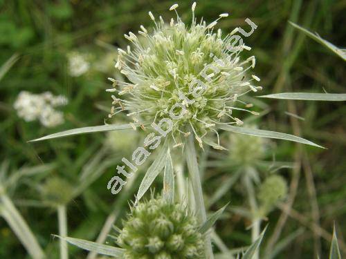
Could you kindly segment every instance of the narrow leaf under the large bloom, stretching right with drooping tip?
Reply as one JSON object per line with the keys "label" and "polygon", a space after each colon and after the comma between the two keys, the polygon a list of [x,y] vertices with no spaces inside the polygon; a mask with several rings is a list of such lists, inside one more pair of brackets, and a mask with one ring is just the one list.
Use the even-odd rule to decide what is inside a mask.
{"label": "narrow leaf under the large bloom, stretching right with drooping tip", "polygon": [[302,137],[297,137],[295,135],[280,133],[280,132],[276,132],[276,131],[264,131],[264,130],[260,130],[257,128],[242,128],[242,127],[231,126],[231,125],[227,125],[227,124],[217,124],[217,127],[220,129],[223,129],[225,131],[231,131],[234,133],[252,135],[252,136],[256,136],[256,137],[268,137],[268,138],[273,138],[273,139],[277,139],[277,140],[289,140],[289,141],[307,144],[307,145],[311,145],[311,146],[317,146],[319,148],[324,148],[323,146],[315,144],[309,140],[305,140]]}

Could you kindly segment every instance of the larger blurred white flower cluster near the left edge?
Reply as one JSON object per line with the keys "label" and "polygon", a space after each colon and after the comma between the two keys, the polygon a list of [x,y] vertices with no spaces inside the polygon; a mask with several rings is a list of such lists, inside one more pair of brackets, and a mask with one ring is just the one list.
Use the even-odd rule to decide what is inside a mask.
{"label": "larger blurred white flower cluster near the left edge", "polygon": [[17,110],[18,116],[26,122],[38,119],[43,126],[51,128],[64,122],[64,114],[56,111],[55,107],[64,106],[67,102],[66,97],[55,96],[51,92],[36,95],[28,91],[21,91],[13,106]]}

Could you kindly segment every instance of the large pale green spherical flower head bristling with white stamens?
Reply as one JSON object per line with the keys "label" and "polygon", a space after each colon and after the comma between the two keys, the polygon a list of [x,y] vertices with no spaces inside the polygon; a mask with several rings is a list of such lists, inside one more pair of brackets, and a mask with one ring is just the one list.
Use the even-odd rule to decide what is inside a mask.
{"label": "large pale green spherical flower head bristling with white stamens", "polygon": [[[174,4],[170,10],[177,7]],[[244,44],[233,46],[235,39],[232,36],[239,28],[227,35],[222,35],[221,29],[215,32],[217,21],[228,14],[219,15],[209,24],[203,18],[197,23],[195,7],[196,3],[192,5],[190,26],[181,21],[177,12],[176,19],[172,18],[170,23],[165,23],[161,16],[157,21],[149,12],[155,23],[153,30],[140,26],[141,39],[132,32],[125,35],[131,46],[127,46],[127,51],[118,49],[116,68],[127,81],[109,78],[113,88],[108,91],[118,93],[112,95],[109,117],[128,111],[127,115],[134,122],[151,124],[169,117],[170,111],[180,115],[183,109],[174,105],[181,103],[185,111],[183,117],[174,121],[174,141],[176,137],[180,139],[182,135],[190,134],[192,129],[200,146],[203,136],[215,131],[215,124],[226,119],[227,124],[242,124],[241,119],[233,116],[233,110],[248,110],[237,107],[240,102],[237,97],[261,89],[252,85],[253,80],[260,79],[247,74],[255,66],[255,57],[245,60],[239,57],[244,49],[251,49]],[[197,80],[206,87],[196,86]],[[194,87],[203,94],[195,97],[191,91]],[[121,97],[125,94],[126,97]]]}

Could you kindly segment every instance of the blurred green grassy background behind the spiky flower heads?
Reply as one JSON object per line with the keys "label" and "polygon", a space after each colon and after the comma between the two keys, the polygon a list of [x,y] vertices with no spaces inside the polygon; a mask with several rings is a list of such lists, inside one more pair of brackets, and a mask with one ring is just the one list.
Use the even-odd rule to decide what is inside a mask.
{"label": "blurred green grassy background behind the spiky flower heads", "polygon": [[[192,1],[175,2],[188,24]],[[111,195],[107,182],[121,157],[126,157],[143,136],[124,131],[122,135],[96,133],[38,143],[28,140],[113,122],[107,119],[111,97],[105,89],[110,86],[107,77],[120,77],[113,61],[117,48],[127,45],[123,35],[137,32],[141,24],[150,28],[149,10],[169,21],[174,14],[168,8],[175,2],[0,1],[0,197],[10,198],[48,258],[59,257],[59,244],[51,234],[58,233],[57,211],[62,204],[69,236],[95,240],[109,215],[120,224],[128,211],[127,199],[134,198],[137,180],[122,195]],[[257,24],[245,42],[257,59],[255,74],[264,86],[261,95],[324,90],[345,93],[343,60],[288,23],[295,21],[343,46],[345,10],[343,0],[208,0],[197,2],[196,14],[214,21],[220,13],[229,12],[230,17],[218,24],[223,32],[238,26],[248,28],[246,17]],[[327,148],[266,143],[266,163],[276,163],[289,194],[267,215],[263,253],[266,258],[316,258],[317,253],[327,258],[335,222],[340,250],[345,254],[345,104],[257,102],[268,111],[256,123],[259,128],[301,135]],[[122,119],[125,116],[118,115],[115,121]],[[121,142],[116,141],[119,136]],[[228,137],[223,141],[228,143]],[[247,206],[242,182],[230,184],[232,188],[215,198],[215,189],[235,173],[228,161],[234,157],[224,153],[216,160],[218,155],[213,152],[206,153],[208,162],[203,165],[208,182],[204,186],[206,201],[212,211],[230,201],[215,230],[228,249],[245,247],[251,244],[251,234],[242,209]],[[267,171],[268,166],[259,169],[263,175]],[[138,180],[141,176],[139,173]],[[160,189],[158,184],[156,190]],[[1,206],[6,211],[6,206]],[[2,213],[0,258],[29,258],[8,224],[6,212]],[[271,254],[273,247],[277,250]],[[69,253],[71,258],[86,257],[84,251],[71,246]]]}

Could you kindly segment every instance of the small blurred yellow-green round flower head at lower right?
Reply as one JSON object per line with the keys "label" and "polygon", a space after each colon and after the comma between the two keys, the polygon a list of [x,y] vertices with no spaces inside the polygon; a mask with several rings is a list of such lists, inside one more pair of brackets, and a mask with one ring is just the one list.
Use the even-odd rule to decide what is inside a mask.
{"label": "small blurred yellow-green round flower head at lower right", "polygon": [[280,175],[270,175],[260,186],[258,200],[264,213],[268,213],[275,207],[277,202],[286,198],[287,184],[286,180]]}

